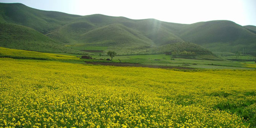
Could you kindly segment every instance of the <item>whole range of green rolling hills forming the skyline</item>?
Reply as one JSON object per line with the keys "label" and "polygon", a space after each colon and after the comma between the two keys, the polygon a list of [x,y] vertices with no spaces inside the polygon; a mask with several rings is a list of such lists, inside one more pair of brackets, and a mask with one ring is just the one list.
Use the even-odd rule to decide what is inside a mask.
{"label": "whole range of green rolling hills forming the skyline", "polygon": [[[178,42],[192,42],[211,51],[234,53],[245,50],[248,54],[256,55],[256,27],[240,26],[232,21],[178,24],[156,19],[134,20],[100,14],[70,15],[37,10],[20,3],[0,3],[0,23],[19,24],[35,29],[63,47],[66,44],[79,44],[115,46],[122,49],[129,46],[131,49],[131,46],[160,47]],[[0,43],[3,46],[4,43]],[[146,49],[148,47],[144,50]]]}

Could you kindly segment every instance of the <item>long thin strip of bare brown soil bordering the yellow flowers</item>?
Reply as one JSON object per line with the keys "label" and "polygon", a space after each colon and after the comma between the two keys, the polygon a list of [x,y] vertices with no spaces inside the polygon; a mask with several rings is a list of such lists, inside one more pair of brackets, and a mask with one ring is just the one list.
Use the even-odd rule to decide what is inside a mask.
{"label": "long thin strip of bare brown soil bordering the yellow flowers", "polygon": [[139,63],[105,63],[105,62],[86,62],[92,65],[111,65],[111,66],[135,66],[135,67],[148,67],[148,68],[177,68],[183,70],[193,70],[194,68],[180,67],[180,66],[164,66],[164,65],[143,65]]}

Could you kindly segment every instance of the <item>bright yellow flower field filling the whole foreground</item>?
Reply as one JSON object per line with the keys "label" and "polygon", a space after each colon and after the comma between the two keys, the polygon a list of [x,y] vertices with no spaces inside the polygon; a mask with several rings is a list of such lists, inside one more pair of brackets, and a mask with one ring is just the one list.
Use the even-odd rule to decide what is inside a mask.
{"label": "bright yellow flower field filling the whole foreground", "polygon": [[[248,128],[256,71],[0,58],[0,128]],[[248,118],[248,119],[247,119]]]}

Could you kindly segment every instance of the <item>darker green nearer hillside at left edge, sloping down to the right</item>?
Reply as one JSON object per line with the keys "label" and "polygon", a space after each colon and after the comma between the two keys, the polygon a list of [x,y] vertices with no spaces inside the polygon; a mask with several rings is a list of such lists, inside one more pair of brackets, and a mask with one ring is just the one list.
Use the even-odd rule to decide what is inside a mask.
{"label": "darker green nearer hillside at left edge, sloping down to the right", "polygon": [[17,24],[0,23],[0,46],[11,49],[32,50],[38,52],[66,52],[86,54],[79,50],[64,47],[44,34]]}

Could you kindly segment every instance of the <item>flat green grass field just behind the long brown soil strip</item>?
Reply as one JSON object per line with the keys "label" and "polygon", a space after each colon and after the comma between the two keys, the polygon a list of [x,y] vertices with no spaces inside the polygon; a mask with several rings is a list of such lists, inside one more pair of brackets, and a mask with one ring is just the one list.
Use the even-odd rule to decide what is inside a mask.
{"label": "flat green grass field just behind the long brown soil strip", "polygon": [[[109,56],[92,56],[93,58],[110,58]],[[248,69],[253,70],[254,66],[245,65],[246,62],[232,62],[229,60],[202,60],[202,59],[186,59],[186,58],[172,58],[171,55],[157,54],[157,55],[126,55],[116,56],[113,62],[126,63],[141,63],[150,65],[167,65],[167,66],[182,66],[199,69]],[[248,63],[248,62],[247,62]],[[256,65],[254,62],[248,64]]]}

